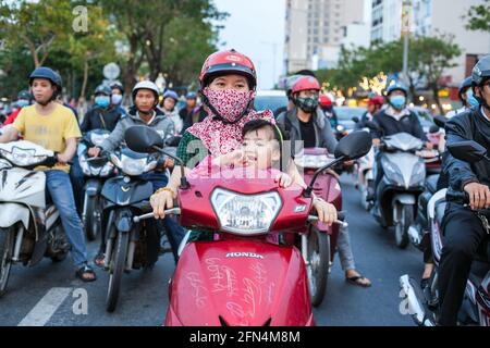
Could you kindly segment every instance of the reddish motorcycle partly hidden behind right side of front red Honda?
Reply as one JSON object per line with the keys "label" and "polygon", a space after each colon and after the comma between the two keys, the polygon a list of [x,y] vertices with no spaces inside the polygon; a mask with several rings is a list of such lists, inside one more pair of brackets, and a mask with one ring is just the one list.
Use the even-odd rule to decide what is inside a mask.
{"label": "reddish motorcycle partly hidden behind right side of front red Honda", "polygon": [[[303,153],[299,153],[294,161],[298,170],[303,171],[305,183],[309,183],[315,172],[334,161],[334,158],[329,157],[327,149],[308,148],[304,149]],[[342,192],[334,175],[322,172],[315,182],[314,192],[335,206],[338,211],[342,210]],[[344,225],[347,226],[347,223]],[[302,245],[304,244],[307,250],[305,264],[314,307],[320,306],[327,294],[328,277],[333,264],[338,236],[338,225],[329,227],[320,223],[310,225],[307,234],[302,234]]]}

